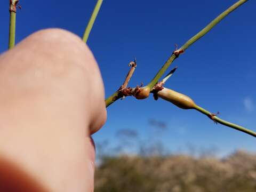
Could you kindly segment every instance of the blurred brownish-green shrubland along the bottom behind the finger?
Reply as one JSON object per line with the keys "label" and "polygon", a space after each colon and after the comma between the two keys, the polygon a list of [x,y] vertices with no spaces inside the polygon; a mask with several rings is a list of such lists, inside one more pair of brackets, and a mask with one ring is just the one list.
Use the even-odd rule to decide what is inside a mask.
{"label": "blurred brownish-green shrubland along the bottom behind the finger", "polygon": [[106,157],[95,171],[95,191],[255,192],[256,155]]}

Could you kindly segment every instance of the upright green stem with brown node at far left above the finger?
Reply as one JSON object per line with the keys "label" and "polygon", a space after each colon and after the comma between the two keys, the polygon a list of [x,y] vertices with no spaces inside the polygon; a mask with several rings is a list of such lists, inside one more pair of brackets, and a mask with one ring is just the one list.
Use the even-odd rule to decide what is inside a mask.
{"label": "upright green stem with brown node at far left above the finger", "polygon": [[15,45],[16,11],[18,0],[10,0],[10,27],[9,27],[9,49]]}

